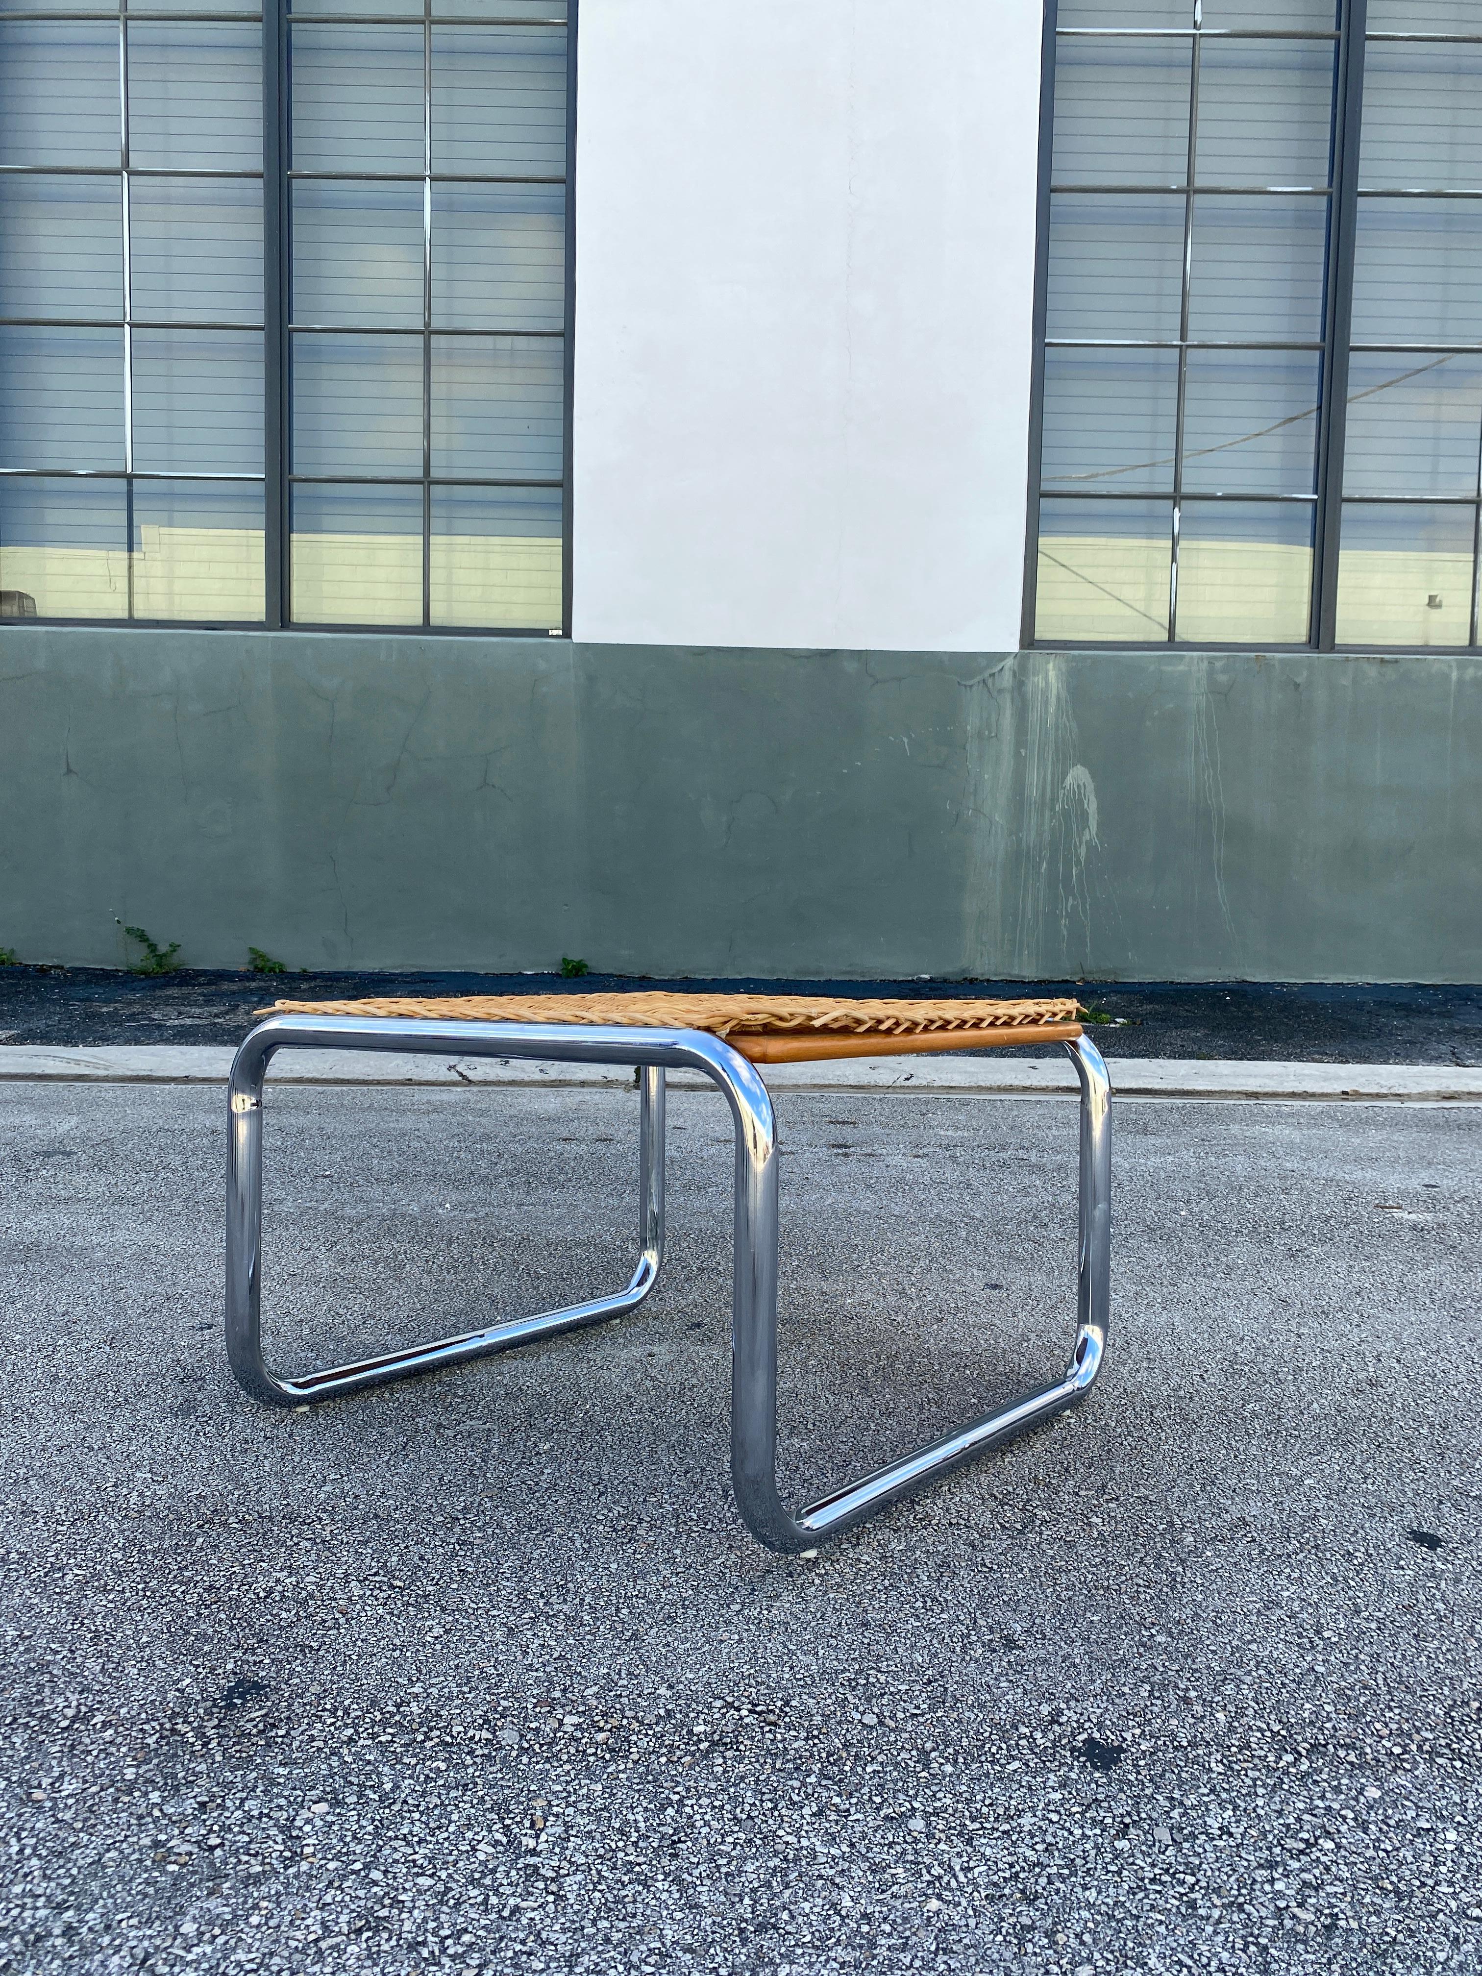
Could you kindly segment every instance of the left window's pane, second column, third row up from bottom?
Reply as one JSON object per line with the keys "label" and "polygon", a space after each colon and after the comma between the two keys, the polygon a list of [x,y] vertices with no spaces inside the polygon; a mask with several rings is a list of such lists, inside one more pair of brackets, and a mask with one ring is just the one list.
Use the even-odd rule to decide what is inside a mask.
{"label": "left window's pane, second column, third row up from bottom", "polygon": [[251,178],[134,178],[134,318],[263,320],[263,186]]}

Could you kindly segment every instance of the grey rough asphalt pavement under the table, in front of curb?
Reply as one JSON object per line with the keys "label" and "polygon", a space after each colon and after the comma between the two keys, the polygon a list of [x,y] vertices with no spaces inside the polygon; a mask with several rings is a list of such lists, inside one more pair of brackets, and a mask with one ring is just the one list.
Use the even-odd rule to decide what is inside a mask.
{"label": "grey rough asphalt pavement under the table, in front of curb", "polygon": [[[715,1099],[644,1312],[302,1415],[219,1095],[0,1105],[0,1968],[1482,1964],[1482,1112],[1120,1105],[1091,1405],[808,1561],[727,1496]],[[634,1112],[271,1095],[283,1359],[622,1278]],[[1061,1363],[1069,1105],[781,1114],[796,1486]]]}

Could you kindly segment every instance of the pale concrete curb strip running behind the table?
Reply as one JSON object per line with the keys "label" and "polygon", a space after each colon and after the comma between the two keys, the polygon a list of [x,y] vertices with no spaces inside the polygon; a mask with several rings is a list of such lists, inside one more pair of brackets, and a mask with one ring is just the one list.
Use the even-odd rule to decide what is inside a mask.
{"label": "pale concrete curb strip running behind the table", "polygon": [[[219,1085],[231,1051],[215,1045],[119,1043],[99,1049],[0,1045],[0,1083]],[[1205,1063],[1118,1057],[1112,1089],[1122,1099],[1235,1099],[1278,1103],[1482,1105],[1482,1069],[1441,1063]],[[565,1063],[512,1063],[494,1057],[354,1055],[287,1051],[271,1071],[281,1085],[498,1085],[549,1089],[630,1089],[618,1069]],[[948,1097],[1069,1097],[1067,1057],[854,1057],[842,1063],[773,1065],[777,1091],[921,1091]],[[711,1089],[690,1073],[684,1089]]]}

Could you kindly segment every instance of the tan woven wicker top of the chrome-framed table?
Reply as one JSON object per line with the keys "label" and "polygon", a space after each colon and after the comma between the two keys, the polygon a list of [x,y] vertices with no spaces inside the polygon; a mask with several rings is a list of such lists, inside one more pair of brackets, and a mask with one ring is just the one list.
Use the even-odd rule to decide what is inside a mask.
{"label": "tan woven wicker top of the chrome-framed table", "polygon": [[753,1063],[895,1057],[1006,1043],[1067,1043],[1081,1033],[1069,998],[1024,1002],[885,1002],[749,994],[405,996],[364,1002],[275,1002],[273,1016],[407,1016],[427,1022],[573,1022],[640,1029],[707,1029]]}

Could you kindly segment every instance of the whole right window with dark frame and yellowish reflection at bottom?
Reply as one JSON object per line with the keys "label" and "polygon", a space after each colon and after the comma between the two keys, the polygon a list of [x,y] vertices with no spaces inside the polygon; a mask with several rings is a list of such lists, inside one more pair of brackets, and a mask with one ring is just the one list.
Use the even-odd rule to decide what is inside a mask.
{"label": "whole right window with dark frame and yellowish reflection at bottom", "polygon": [[1474,0],[1059,0],[1037,642],[1478,642]]}

